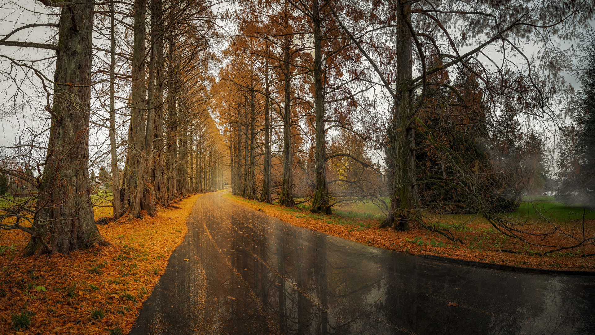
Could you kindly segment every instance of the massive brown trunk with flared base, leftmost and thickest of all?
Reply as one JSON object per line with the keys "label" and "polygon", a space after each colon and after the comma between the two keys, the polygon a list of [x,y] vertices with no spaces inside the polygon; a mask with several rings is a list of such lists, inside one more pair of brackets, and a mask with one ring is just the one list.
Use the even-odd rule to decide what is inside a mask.
{"label": "massive brown trunk with flared base, leftmost and thickest of all", "polygon": [[[60,15],[51,129],[33,222],[42,235],[31,238],[26,256],[108,244],[95,225],[87,166],[94,7],[74,0]],[[48,240],[51,250],[42,247]]]}

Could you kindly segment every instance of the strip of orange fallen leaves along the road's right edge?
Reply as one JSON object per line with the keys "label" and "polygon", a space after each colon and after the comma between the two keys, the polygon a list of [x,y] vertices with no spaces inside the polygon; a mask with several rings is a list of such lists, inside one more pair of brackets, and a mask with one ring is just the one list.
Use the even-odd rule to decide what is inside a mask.
{"label": "strip of orange fallen leaves along the road's right edge", "polygon": [[[499,233],[455,232],[455,237],[464,240],[465,238],[468,238],[465,245],[462,246],[459,243],[452,243],[452,241],[444,238],[443,235],[440,235],[437,232],[428,231],[427,229],[414,228],[409,229],[408,231],[396,231],[391,228],[378,229],[378,224],[380,224],[379,221],[362,219],[350,219],[354,224],[340,225],[328,222],[336,219],[336,216],[325,214],[313,215],[309,212],[300,214],[289,212],[286,207],[274,204],[258,203],[252,200],[240,200],[240,198],[234,196],[228,196],[228,198],[243,206],[259,210],[274,216],[275,218],[281,219],[282,221],[296,225],[297,227],[308,228],[336,237],[345,238],[346,240],[367,244],[369,246],[410,253],[412,255],[431,254],[449,258],[476,260],[478,262],[525,266],[529,268],[595,271],[595,258],[593,257],[581,258],[580,256],[560,254],[550,256],[531,255],[530,253],[523,252],[524,246],[516,239],[508,240],[508,242],[502,246],[502,249],[508,248],[518,250],[518,254],[500,252],[488,247],[469,250],[469,240],[472,240],[474,237],[480,237],[481,239],[490,235],[493,240],[494,236]],[[370,228],[356,225],[359,223],[367,225]],[[595,222],[590,222],[590,224],[595,224]],[[476,229],[491,228],[487,224],[481,223],[472,223],[469,224],[469,227]],[[501,235],[502,234],[500,234],[500,236]],[[413,240],[415,238],[418,238],[417,241],[421,241],[421,244],[414,242]],[[489,240],[489,238],[487,240]],[[434,245],[431,244],[431,241],[434,241]],[[443,243],[443,245],[440,243]],[[591,249],[586,249],[585,251],[593,252]]]}

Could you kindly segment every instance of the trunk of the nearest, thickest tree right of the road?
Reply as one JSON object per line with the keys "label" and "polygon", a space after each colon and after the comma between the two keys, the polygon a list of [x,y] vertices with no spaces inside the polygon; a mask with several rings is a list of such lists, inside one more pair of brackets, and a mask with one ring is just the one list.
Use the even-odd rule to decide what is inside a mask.
{"label": "trunk of the nearest, thickest tree right of the road", "polygon": [[415,130],[409,122],[411,118],[412,92],[409,82],[412,75],[412,41],[406,20],[411,18],[411,7],[401,4],[397,11],[397,100],[394,103],[393,132],[393,192],[389,215],[381,227],[394,227],[399,230],[409,228],[410,221],[417,219],[419,208],[417,186],[415,186]]}

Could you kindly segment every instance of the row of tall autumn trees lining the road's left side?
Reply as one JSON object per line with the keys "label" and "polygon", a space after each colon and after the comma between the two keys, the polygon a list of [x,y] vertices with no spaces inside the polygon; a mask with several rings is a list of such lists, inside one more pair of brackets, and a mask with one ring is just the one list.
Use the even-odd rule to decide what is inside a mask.
{"label": "row of tall autumn trees lining the road's left side", "polygon": [[[0,228],[32,235],[25,254],[68,254],[107,243],[93,216],[90,163],[110,166],[108,200],[115,219],[125,213],[154,215],[157,204],[223,187],[223,143],[208,104],[209,69],[217,60],[211,49],[218,38],[211,4],[39,2],[48,21],[17,26],[0,41],[52,50],[55,64],[51,76],[47,68],[39,70],[39,61],[2,55],[10,68],[5,83],[17,86],[13,98],[30,95],[18,87],[20,80],[31,80],[28,73],[19,76],[28,70],[46,92],[47,114],[36,116],[38,122],[47,117],[49,129],[2,151],[2,159],[36,166],[32,173],[2,171],[38,190],[28,201],[3,203]],[[9,39],[38,26],[57,28],[57,41]]]}

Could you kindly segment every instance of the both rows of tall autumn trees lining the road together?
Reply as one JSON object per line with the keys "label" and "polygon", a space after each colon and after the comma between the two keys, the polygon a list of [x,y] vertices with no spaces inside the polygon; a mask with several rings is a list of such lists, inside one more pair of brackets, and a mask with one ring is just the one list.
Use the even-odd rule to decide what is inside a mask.
{"label": "both rows of tall autumn trees lining the road together", "polygon": [[[0,40],[55,52],[42,59],[53,77],[2,55],[14,97],[35,75],[45,98],[48,127],[4,155],[38,158],[32,175],[4,171],[39,190],[35,206],[4,209],[17,222],[2,229],[32,234],[27,254],[105,243],[90,157],[109,160],[116,218],[220,188],[226,166],[248,198],[317,213],[365,198],[396,229],[430,228],[423,210],[479,212],[520,237],[505,212],[541,178],[534,125],[559,123],[556,98],[571,91],[560,76],[571,55],[551,42],[593,15],[589,2],[551,0],[254,0],[223,15],[203,1],[38,1],[60,21]],[[57,41],[11,39],[36,27]]]}

